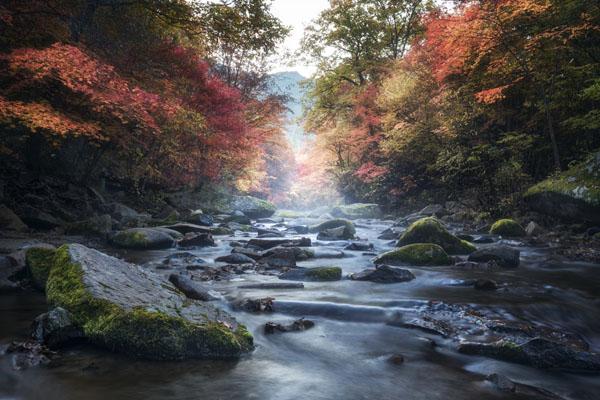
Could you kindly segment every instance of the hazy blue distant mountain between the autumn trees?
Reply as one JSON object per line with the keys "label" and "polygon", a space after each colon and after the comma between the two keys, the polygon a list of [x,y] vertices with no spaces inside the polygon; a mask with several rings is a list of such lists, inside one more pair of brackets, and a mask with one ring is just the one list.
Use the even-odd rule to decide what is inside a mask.
{"label": "hazy blue distant mountain between the autumn trees", "polygon": [[306,134],[299,119],[302,115],[302,97],[304,88],[300,82],[306,78],[297,71],[285,71],[271,74],[268,87],[273,94],[285,95],[289,97],[286,103],[290,109],[288,112],[288,122],[286,124],[286,136],[294,151],[300,150],[305,143],[313,140],[312,134]]}

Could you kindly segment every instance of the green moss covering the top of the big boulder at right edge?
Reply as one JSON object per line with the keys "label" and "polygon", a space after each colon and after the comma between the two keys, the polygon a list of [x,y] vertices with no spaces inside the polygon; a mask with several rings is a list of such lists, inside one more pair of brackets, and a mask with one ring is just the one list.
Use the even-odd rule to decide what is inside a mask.
{"label": "green moss covering the top of the big boulder at right edge", "polygon": [[576,164],[560,174],[537,183],[525,197],[542,193],[558,193],[600,206],[600,153]]}

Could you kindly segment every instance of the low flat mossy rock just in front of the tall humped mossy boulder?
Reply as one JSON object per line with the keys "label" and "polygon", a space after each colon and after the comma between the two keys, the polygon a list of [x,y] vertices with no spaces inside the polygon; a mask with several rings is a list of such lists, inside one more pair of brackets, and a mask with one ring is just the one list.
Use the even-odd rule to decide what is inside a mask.
{"label": "low flat mossy rock just in front of the tall humped mossy boulder", "polygon": [[433,243],[413,243],[381,254],[373,261],[388,265],[450,265],[452,259],[444,249]]}

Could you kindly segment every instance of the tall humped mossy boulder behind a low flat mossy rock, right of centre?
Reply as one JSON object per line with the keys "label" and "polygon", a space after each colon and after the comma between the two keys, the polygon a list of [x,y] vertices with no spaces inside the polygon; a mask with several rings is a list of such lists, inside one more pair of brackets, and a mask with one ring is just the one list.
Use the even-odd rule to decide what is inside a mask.
{"label": "tall humped mossy boulder behind a low flat mossy rock, right of centre", "polygon": [[413,243],[433,243],[441,246],[448,254],[470,254],[475,246],[448,232],[446,227],[436,218],[421,218],[413,222],[400,236],[398,247]]}

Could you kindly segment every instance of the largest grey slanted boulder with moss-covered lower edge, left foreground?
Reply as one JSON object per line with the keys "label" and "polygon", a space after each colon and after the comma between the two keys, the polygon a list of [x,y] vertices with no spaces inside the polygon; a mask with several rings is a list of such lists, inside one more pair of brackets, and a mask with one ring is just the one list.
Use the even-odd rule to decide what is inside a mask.
{"label": "largest grey slanted boulder with moss-covered lower edge, left foreground", "polygon": [[92,343],[154,360],[237,358],[252,336],[226,312],[187,299],[160,276],[79,244],[60,247],[48,301]]}

